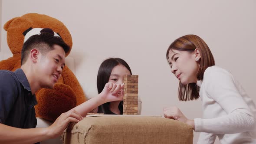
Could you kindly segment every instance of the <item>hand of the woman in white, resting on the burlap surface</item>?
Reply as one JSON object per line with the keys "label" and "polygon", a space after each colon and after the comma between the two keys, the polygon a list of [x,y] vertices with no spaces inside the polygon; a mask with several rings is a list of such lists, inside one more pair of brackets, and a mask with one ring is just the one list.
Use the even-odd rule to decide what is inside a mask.
{"label": "hand of the woman in white, resting on the burlap surface", "polygon": [[185,117],[185,115],[181,112],[181,110],[175,106],[164,108],[164,117],[184,122],[186,124],[191,125],[193,128],[195,128],[194,120],[187,119],[187,117]]}

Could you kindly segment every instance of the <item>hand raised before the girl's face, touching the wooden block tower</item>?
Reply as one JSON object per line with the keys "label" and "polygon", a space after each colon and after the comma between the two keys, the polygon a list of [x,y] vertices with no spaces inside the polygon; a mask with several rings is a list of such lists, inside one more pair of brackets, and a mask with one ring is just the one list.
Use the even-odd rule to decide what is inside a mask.
{"label": "hand raised before the girl's face, touching the wooden block tower", "polygon": [[113,84],[112,82],[106,83],[104,89],[99,94],[100,97],[105,101],[121,101],[124,98],[124,88],[125,84]]}

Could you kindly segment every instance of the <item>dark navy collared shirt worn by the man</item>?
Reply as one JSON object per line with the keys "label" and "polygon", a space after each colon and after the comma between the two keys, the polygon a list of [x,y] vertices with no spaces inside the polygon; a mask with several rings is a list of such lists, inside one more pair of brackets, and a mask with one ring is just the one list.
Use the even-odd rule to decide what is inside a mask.
{"label": "dark navy collared shirt worn by the man", "polygon": [[36,128],[36,104],[22,69],[0,70],[0,123],[16,128]]}

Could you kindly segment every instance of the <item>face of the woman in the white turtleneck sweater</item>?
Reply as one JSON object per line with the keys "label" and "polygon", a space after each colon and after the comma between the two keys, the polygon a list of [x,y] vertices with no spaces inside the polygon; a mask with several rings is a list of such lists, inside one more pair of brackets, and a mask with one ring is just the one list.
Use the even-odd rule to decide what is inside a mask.
{"label": "face of the woman in the white turtleneck sweater", "polygon": [[196,59],[200,59],[200,54],[194,52],[179,51],[171,49],[169,51],[169,63],[171,72],[181,81],[183,85],[197,82],[197,72],[199,70],[199,63]]}

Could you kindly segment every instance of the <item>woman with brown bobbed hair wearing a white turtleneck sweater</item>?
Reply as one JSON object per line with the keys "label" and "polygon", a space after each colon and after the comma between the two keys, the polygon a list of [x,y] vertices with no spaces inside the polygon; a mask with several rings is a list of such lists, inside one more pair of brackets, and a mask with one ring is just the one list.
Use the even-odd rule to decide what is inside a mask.
{"label": "woman with brown bobbed hair wearing a white turtleneck sweater", "polygon": [[176,39],[167,49],[171,72],[180,81],[181,101],[201,98],[203,118],[187,119],[177,107],[164,108],[164,117],[201,132],[198,144],[256,144],[256,106],[233,76],[215,66],[207,44],[196,35]]}

